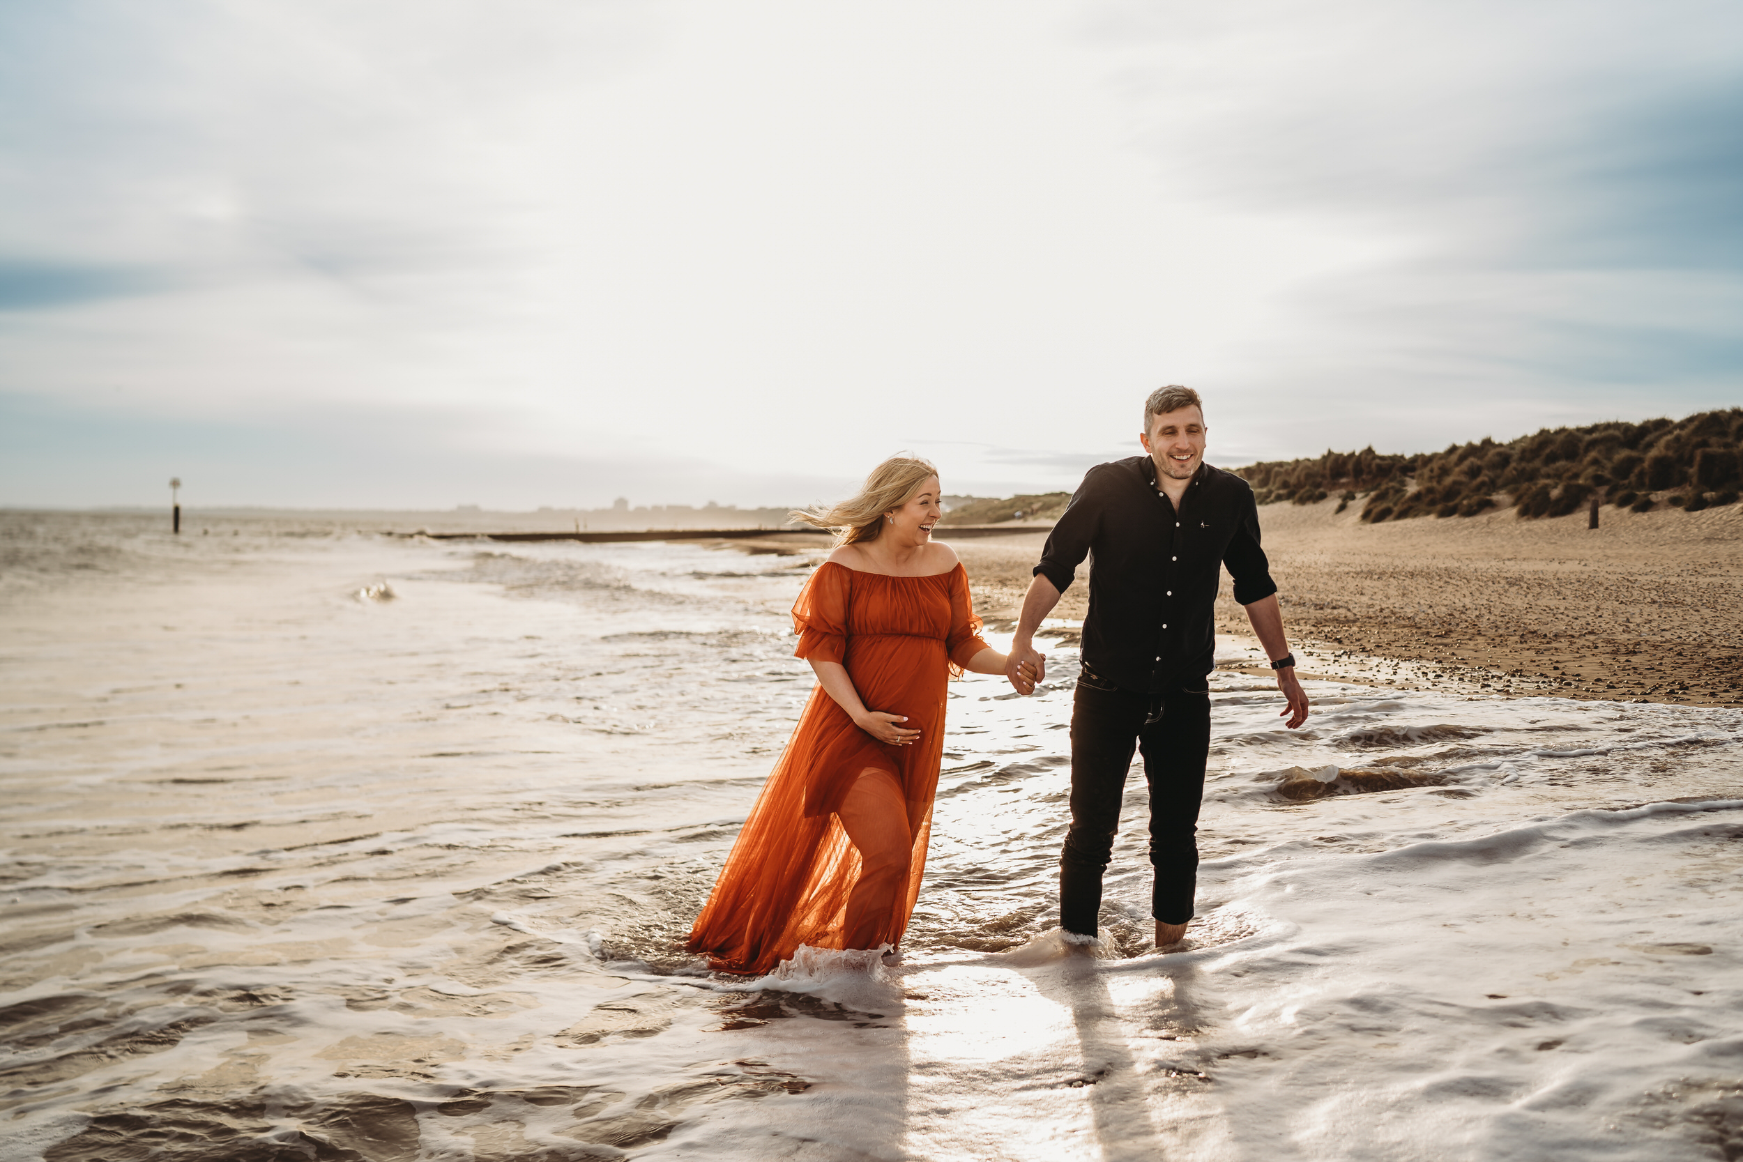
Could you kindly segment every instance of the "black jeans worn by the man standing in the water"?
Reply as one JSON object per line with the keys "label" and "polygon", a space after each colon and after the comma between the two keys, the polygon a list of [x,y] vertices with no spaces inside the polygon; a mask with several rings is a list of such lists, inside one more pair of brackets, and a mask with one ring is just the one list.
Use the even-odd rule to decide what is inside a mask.
{"label": "black jeans worn by the man standing in the water", "polygon": [[[1199,679],[1203,681],[1203,679]],[[1156,711],[1161,709],[1157,716]],[[1084,671],[1072,704],[1072,829],[1060,852],[1060,927],[1095,936],[1133,746],[1150,784],[1150,915],[1192,918],[1197,812],[1210,754],[1210,692],[1131,693]]]}

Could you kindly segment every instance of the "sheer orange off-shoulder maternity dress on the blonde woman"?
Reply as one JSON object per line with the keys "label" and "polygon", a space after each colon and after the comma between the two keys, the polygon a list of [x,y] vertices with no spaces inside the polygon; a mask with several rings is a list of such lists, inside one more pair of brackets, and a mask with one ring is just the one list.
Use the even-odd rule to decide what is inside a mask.
{"label": "sheer orange off-shoulder maternity dress on the blonde woman", "polygon": [[861,861],[835,812],[866,768],[894,775],[906,803],[908,875],[887,902],[877,899],[880,930],[870,946],[901,941],[933,828],[946,683],[987,648],[960,564],[889,577],[828,561],[800,591],[793,629],[795,657],[840,662],[868,711],[906,714],[899,725],[922,733],[912,746],[878,742],[823,686],[812,688],[690,930],[690,951],[723,972],[769,972],[800,944],[844,946]]}

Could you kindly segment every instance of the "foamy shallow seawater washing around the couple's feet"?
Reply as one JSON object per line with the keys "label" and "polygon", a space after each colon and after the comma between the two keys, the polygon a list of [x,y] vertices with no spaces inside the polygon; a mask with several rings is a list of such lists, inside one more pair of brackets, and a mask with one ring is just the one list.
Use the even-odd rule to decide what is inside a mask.
{"label": "foamy shallow seawater washing around the couple's feet", "polygon": [[1288,732],[1218,672],[1189,941],[1135,774],[1074,948],[1055,648],[952,686],[905,960],[749,981],[682,942],[805,561],[30,519],[7,1159],[1743,1153],[1743,713],[1314,683]]}

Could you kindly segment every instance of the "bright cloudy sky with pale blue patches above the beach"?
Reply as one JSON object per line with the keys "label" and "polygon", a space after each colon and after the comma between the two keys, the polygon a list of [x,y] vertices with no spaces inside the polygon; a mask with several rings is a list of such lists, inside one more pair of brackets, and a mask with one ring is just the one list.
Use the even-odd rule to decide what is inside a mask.
{"label": "bright cloudy sky with pale blue patches above the beach", "polygon": [[0,503],[791,503],[1743,404],[1731,0],[0,0]]}

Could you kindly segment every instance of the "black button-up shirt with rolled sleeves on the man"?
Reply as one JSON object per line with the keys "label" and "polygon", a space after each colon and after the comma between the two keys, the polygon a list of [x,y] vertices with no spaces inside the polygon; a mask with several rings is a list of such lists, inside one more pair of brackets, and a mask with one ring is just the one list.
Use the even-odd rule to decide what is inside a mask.
{"label": "black button-up shirt with rolled sleeves on the man", "polygon": [[1217,665],[1220,566],[1234,599],[1278,591],[1258,547],[1258,505],[1238,476],[1201,463],[1180,510],[1156,490],[1156,462],[1098,463],[1072,493],[1035,573],[1060,592],[1089,557],[1082,660],[1121,690],[1178,690]]}

